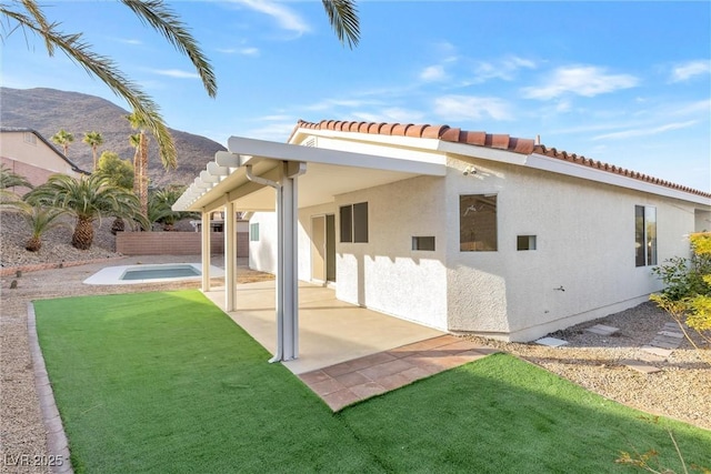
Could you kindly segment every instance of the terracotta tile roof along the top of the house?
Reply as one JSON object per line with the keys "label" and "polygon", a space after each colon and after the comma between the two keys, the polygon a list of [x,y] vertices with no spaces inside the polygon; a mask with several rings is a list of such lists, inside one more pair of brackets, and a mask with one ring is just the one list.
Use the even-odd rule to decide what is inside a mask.
{"label": "terracotta tile roof along the top of the house", "polygon": [[298,129],[313,129],[313,130],[334,130],[342,132],[360,132],[372,133],[381,135],[392,137],[413,137],[423,139],[438,139],[455,143],[464,143],[477,147],[487,147],[498,150],[507,150],[513,153],[521,154],[542,154],[544,157],[554,158],[561,161],[575,163],[581,167],[593,168],[601,171],[607,171],[613,174],[620,174],[623,177],[632,178],[639,181],[644,181],[652,184],[658,184],[665,188],[671,188],[678,191],[688,192],[691,194],[701,195],[704,198],[711,198],[711,193],[699,191],[693,188],[675,184],[670,181],[664,181],[659,178],[650,177],[639,173],[637,171],[627,170],[620,167],[615,167],[601,161],[592,160],[583,155],[575,153],[568,153],[565,151],[558,151],[554,148],[547,148],[542,144],[537,144],[531,139],[519,139],[500,133],[487,133],[487,132],[472,132],[458,128],[451,128],[449,125],[430,125],[430,124],[413,124],[413,123],[375,123],[375,122],[348,122],[338,120],[322,120],[318,123],[307,122],[299,120],[294,127],[291,137]]}

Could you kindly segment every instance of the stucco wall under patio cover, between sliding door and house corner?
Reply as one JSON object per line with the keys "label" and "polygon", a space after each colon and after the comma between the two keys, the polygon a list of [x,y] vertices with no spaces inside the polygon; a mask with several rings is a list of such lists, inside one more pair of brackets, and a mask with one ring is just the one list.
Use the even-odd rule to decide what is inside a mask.
{"label": "stucco wall under patio cover, between sliding door and house corner", "polygon": [[[420,177],[337,196],[337,206],[368,202],[369,218],[368,243],[337,244],[338,299],[447,329],[443,184]],[[412,236],[434,236],[435,250],[412,250]]]}

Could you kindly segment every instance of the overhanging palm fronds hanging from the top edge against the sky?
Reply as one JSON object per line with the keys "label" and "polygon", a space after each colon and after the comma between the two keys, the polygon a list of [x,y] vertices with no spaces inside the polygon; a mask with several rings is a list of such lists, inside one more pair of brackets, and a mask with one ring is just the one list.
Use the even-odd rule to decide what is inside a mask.
{"label": "overhanging palm fronds hanging from the top edge against the sky", "polygon": [[[144,23],[149,24],[181,54],[187,56],[194,65],[202,80],[208,95],[217,95],[217,80],[207,58],[186,24],[163,0],[119,0]],[[341,43],[348,41],[352,48],[358,44],[360,37],[358,12],[354,0],[321,0],[329,21]],[[82,33],[64,33],[58,27],[60,23],[48,21],[43,8],[36,0],[22,0],[0,3],[0,13],[6,17],[9,26],[2,31],[8,36],[18,28],[36,33],[44,40],[49,56],[59,49],[81,65],[89,74],[103,81],[113,93],[124,99],[141,118],[146,128],[158,142],[160,159],[164,167],[174,167],[177,159],[176,144],[168,127],[159,112],[158,105],[132,80],[123,75],[116,62],[108,57],[97,54],[91,46],[86,43]],[[17,23],[17,27],[12,24]],[[0,36],[0,39],[3,39]]]}

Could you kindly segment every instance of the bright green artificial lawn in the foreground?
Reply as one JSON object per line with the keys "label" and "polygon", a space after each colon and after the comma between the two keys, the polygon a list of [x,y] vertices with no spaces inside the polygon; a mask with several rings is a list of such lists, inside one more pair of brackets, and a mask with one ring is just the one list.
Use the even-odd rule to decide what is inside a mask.
{"label": "bright green artificial lawn in the foreground", "polygon": [[711,432],[498,354],[332,414],[198,291],[34,303],[77,472],[634,472],[711,465]]}

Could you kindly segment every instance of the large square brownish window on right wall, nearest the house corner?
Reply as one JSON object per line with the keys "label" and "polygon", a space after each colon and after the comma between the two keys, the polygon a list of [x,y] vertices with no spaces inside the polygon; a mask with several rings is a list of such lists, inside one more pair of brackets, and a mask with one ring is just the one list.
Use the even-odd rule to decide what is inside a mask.
{"label": "large square brownish window on right wall, nearest the house corner", "polygon": [[491,252],[498,250],[497,195],[469,194],[459,196],[460,252]]}

